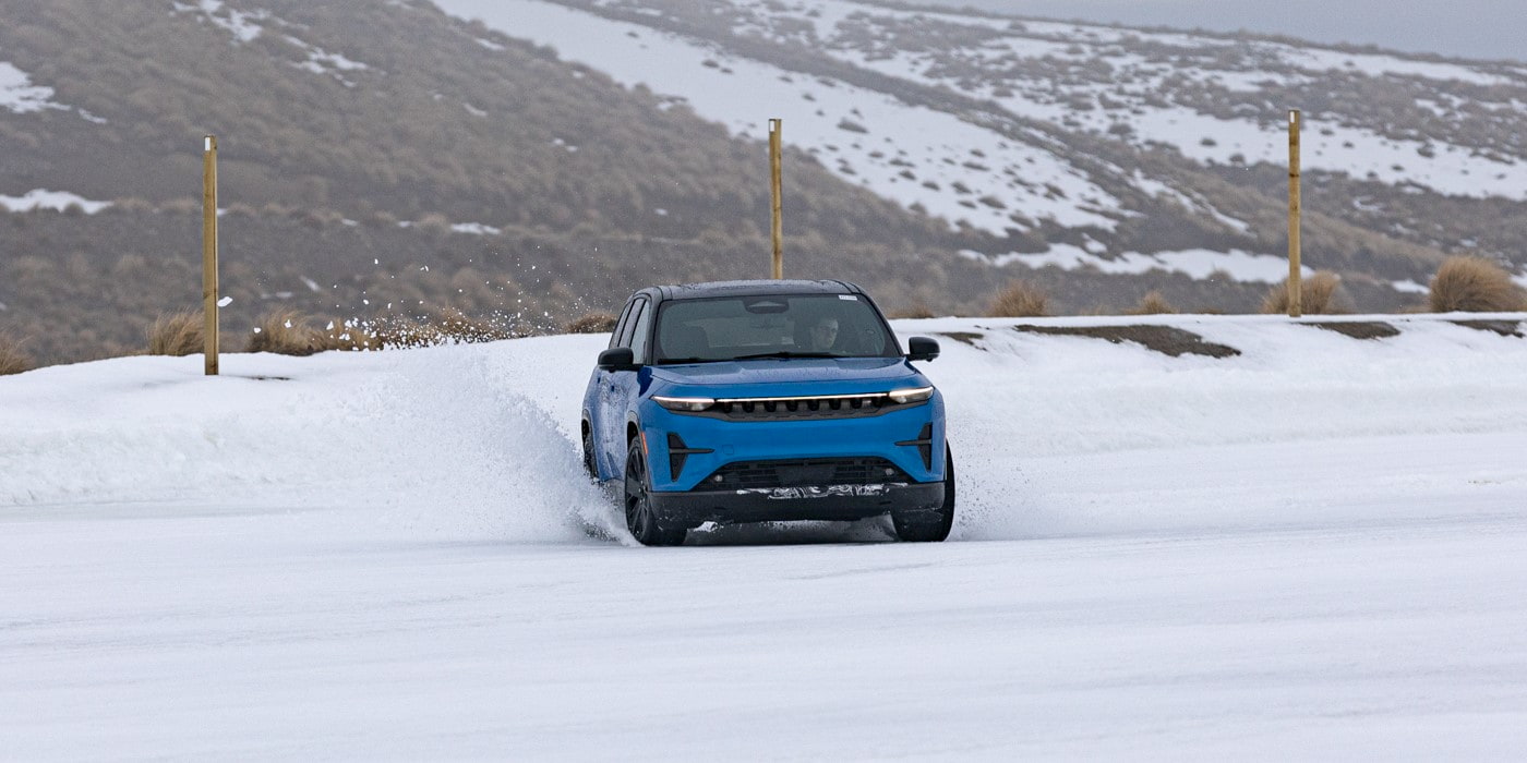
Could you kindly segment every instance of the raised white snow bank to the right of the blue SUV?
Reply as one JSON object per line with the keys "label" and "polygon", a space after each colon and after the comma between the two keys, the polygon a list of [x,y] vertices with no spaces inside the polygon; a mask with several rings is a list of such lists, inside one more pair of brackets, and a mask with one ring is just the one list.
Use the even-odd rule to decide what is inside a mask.
{"label": "raised white snow bank to the right of the blue SUV", "polygon": [[[1460,475],[1486,479],[1474,493],[1489,497],[1469,505],[1522,505],[1527,340],[1435,317],[1327,319],[1399,331],[1353,339],[1319,320],[933,319],[898,331],[944,334],[928,372],[965,453],[965,539],[1382,523],[1472,510],[1406,497],[1455,499]],[[1125,324],[1241,354],[1174,359],[1014,330]]]}

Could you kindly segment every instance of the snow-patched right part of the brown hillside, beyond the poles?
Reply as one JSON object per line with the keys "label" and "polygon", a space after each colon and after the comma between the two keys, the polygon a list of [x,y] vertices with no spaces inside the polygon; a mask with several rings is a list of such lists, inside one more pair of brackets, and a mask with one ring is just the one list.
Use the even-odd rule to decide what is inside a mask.
{"label": "snow-patched right part of the brown hillside, beyond the poles", "polygon": [[[1527,253],[1492,240],[1487,224],[1403,198],[1519,214],[1527,69],[1515,64],[858,0],[437,5],[651,87],[738,136],[762,139],[765,121],[783,118],[785,142],[841,179],[1011,237],[1008,250],[974,256],[1063,269],[1133,259],[1142,267],[1113,272],[1191,273],[1177,266],[1190,256],[1263,282],[1267,269],[1243,264],[1281,253],[1280,198],[1228,198],[1203,177],[1277,194],[1263,183],[1287,163],[1287,110],[1303,108],[1303,165],[1321,188],[1307,195],[1312,215],[1527,267]],[[1183,247],[1138,229],[1168,209],[1194,218],[1200,241]],[[1321,267],[1400,288],[1408,279],[1405,262],[1330,258],[1347,241],[1309,246],[1327,252]]]}

